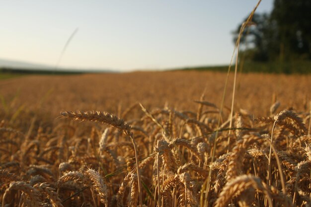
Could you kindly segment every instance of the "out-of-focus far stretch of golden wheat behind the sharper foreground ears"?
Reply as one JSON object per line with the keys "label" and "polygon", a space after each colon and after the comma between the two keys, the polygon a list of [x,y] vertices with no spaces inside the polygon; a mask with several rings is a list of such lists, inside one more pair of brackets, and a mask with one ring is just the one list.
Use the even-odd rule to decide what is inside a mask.
{"label": "out-of-focus far stretch of golden wheat behind the sharper foreground ears", "polygon": [[[196,110],[205,99],[221,104],[226,73],[211,71],[160,71],[75,75],[20,75],[0,81],[1,116],[30,113],[55,120],[64,110],[99,110],[120,114],[141,102],[148,108],[164,105]],[[224,113],[229,113],[233,73],[230,74]],[[268,115],[276,100],[280,109],[307,110],[311,100],[311,75],[242,73],[237,79],[235,107],[254,116]],[[120,112],[121,110],[121,112]],[[15,115],[14,115],[15,114]]]}

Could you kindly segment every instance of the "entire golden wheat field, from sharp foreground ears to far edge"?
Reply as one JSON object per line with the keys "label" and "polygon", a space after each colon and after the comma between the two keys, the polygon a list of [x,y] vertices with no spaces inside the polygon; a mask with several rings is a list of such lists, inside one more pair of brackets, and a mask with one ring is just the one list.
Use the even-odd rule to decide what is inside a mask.
{"label": "entire golden wheat field, from sharp foreground ears to far edge", "polygon": [[232,119],[226,75],[1,80],[1,206],[311,207],[311,75],[240,74]]}

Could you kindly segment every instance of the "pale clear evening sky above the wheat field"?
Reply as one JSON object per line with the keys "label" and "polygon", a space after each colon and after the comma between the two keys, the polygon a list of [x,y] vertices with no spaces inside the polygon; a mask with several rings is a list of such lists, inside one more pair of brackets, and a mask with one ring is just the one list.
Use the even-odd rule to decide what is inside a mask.
{"label": "pale clear evening sky above the wheat field", "polygon": [[[1,0],[0,58],[123,71],[226,65],[233,53],[232,31],[256,3]],[[270,12],[272,6],[273,0],[262,0],[256,11]]]}

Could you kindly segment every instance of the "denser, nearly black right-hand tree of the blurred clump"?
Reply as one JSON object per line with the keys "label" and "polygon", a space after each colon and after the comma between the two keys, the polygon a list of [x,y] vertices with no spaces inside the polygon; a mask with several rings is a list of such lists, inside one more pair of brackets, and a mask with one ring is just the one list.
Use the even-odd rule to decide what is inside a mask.
{"label": "denser, nearly black right-hand tree of the blurred clump", "polygon": [[274,0],[271,20],[277,25],[280,59],[311,59],[311,1]]}

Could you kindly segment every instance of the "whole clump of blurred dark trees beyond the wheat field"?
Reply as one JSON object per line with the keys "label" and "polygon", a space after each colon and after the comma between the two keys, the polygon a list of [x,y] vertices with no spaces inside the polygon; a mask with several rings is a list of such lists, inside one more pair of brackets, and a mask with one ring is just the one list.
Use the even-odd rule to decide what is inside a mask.
{"label": "whole clump of blurred dark trees beyond the wheat field", "polygon": [[[240,40],[243,61],[311,63],[311,0],[274,0],[271,13],[255,13],[252,22]],[[233,32],[234,43],[241,24]]]}

